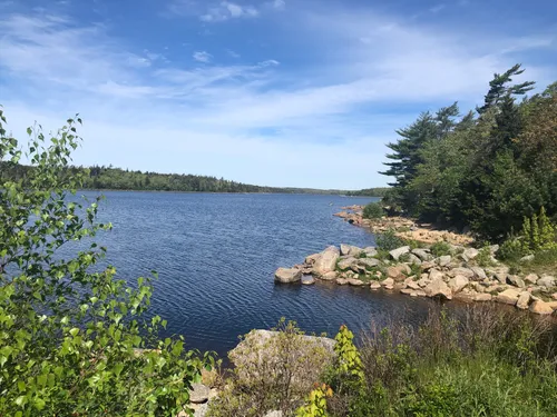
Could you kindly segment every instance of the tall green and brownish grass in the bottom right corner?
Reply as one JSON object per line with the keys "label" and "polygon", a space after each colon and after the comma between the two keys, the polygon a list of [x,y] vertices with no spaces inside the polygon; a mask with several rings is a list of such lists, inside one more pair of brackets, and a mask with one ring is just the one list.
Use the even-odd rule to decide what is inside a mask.
{"label": "tall green and brownish grass in the bottom right corner", "polygon": [[354,361],[363,379],[343,385],[343,356],[324,376],[329,416],[555,416],[550,332],[549,321],[485,305],[370,331]]}

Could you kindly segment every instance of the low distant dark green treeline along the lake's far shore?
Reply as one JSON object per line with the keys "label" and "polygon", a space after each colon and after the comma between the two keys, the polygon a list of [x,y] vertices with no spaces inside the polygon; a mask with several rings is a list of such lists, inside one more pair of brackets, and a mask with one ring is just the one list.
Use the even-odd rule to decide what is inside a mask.
{"label": "low distant dark green treeline along the lake's far shore", "polygon": [[[18,180],[30,175],[32,168],[25,165],[12,165],[0,161],[0,178]],[[280,192],[280,193],[321,193],[321,195],[351,195],[351,196],[375,196],[368,193],[370,190],[343,191],[343,190],[320,190],[314,188],[293,187],[262,187],[224,178],[157,173],[133,171],[114,167],[94,166],[90,168],[72,167],[71,171],[88,170],[84,183],[85,189],[99,190],[137,190],[137,191],[184,191],[184,192]],[[70,172],[71,173],[71,172]],[[373,190],[373,189],[372,189]],[[377,189],[381,190],[381,189]],[[379,191],[378,191],[379,192]],[[378,195],[379,196],[379,195]]]}

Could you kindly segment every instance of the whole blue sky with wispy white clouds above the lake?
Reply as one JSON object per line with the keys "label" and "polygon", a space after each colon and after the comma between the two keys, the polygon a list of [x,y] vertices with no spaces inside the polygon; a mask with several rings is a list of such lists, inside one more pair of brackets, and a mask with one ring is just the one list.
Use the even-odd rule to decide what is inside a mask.
{"label": "whole blue sky with wispy white clouds above the lake", "polygon": [[85,166],[380,187],[395,129],[517,62],[557,80],[557,1],[0,0],[8,130],[79,113]]}

